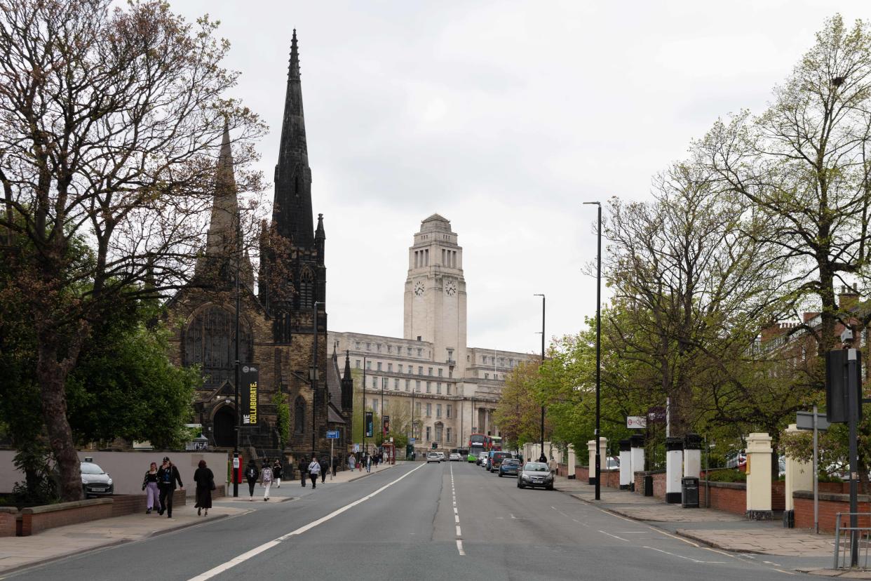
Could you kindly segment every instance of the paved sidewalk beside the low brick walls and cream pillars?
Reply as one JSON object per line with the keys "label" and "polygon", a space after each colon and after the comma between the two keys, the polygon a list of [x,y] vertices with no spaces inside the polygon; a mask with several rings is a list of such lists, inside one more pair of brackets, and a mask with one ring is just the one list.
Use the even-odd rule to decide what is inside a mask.
{"label": "paved sidewalk beside the low brick walls and cream pillars", "polygon": [[557,478],[557,489],[623,517],[645,521],[716,549],[792,557],[832,557],[834,537],[784,529],[780,521],[751,521],[713,509],[684,509],[655,497],[602,487],[595,500],[590,484]]}

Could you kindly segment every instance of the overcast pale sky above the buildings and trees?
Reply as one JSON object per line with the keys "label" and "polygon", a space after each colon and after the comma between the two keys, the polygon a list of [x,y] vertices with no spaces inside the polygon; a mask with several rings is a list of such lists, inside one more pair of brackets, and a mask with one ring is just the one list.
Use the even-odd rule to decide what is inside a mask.
{"label": "overcast pale sky above the buildings and trees", "polygon": [[[334,331],[402,337],[408,247],[448,218],[469,347],[537,353],[596,312],[595,206],[651,197],[719,117],[761,112],[824,20],[871,4],[733,0],[177,0],[232,45],[232,92],[269,125],[273,175],[292,30]],[[272,185],[264,193],[272,198]],[[608,289],[603,283],[603,300]]]}

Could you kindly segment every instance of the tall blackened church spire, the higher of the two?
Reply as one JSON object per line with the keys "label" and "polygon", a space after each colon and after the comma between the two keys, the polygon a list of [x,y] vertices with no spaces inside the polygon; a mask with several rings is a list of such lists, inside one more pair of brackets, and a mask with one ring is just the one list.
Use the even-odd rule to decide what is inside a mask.
{"label": "tall blackened church spire, the higher of the two", "polygon": [[296,247],[312,247],[312,170],[308,167],[306,119],[302,111],[300,53],[296,30],[290,44],[287,93],[278,164],[275,166],[273,221],[278,233],[293,240]]}

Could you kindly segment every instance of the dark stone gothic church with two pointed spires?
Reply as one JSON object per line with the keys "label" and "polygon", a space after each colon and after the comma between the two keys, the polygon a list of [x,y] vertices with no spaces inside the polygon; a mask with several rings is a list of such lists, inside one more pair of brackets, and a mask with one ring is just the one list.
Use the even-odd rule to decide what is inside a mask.
{"label": "dark stone gothic church with two pointed spires", "polygon": [[[233,449],[238,282],[240,366],[253,365],[260,372],[256,425],[240,428],[243,457],[328,454],[328,429],[340,432],[334,444],[341,456],[350,442],[353,387],[347,355],[340,361],[327,348],[326,233],[323,216],[318,214],[315,227],[312,213],[295,30],[274,184],[272,223],[262,228],[255,292],[251,260],[240,243],[242,220],[225,129],[206,249],[192,283],[168,303],[171,357],[176,364],[201,368],[204,383],[193,404],[194,421],[202,424],[210,446]],[[242,387],[244,411],[251,402]],[[279,449],[278,394],[285,395],[290,416],[284,450]]]}

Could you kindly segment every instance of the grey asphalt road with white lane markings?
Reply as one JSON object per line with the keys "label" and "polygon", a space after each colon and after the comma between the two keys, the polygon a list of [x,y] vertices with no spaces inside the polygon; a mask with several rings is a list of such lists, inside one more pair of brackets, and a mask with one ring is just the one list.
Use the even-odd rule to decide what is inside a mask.
{"label": "grey asphalt road with white lane markings", "polygon": [[299,498],[251,503],[252,512],[239,517],[10,578],[697,581],[788,574],[693,546],[559,491],[520,490],[516,479],[469,463],[408,464],[317,490],[286,486]]}

